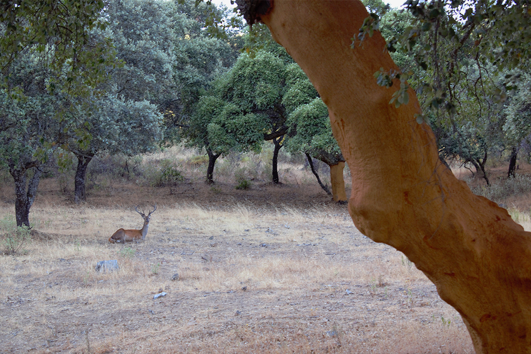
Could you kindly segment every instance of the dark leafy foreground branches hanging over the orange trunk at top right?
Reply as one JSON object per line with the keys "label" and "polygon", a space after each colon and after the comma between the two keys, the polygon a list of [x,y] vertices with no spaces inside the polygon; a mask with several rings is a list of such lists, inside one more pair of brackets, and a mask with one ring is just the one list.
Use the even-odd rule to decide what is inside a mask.
{"label": "dark leafy foreground branches hanging over the orange trunk at top right", "polygon": [[[530,54],[527,2],[409,0],[406,6],[405,12],[375,6],[378,13],[367,21],[373,19],[373,27],[386,28],[382,31],[391,53],[402,53],[414,62],[412,84],[423,96],[424,109],[440,111],[440,119],[459,114],[463,94],[483,91],[485,83],[504,70],[528,68],[522,60]],[[467,77],[466,67],[471,64],[478,80]],[[498,101],[504,97],[501,92]]]}

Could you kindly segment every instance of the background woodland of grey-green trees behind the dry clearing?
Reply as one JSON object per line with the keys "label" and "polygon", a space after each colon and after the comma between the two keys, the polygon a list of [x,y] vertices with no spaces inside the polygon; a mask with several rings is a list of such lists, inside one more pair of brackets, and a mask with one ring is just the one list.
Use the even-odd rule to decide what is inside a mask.
{"label": "background woodland of grey-green trees behind the dry clearing", "polygon": [[[31,25],[17,32],[4,18],[4,31],[11,34],[2,45],[11,51],[6,49],[1,63],[0,162],[4,174],[13,178],[18,226],[29,226],[41,177],[75,171],[72,197],[80,203],[87,200],[93,158],[123,156],[129,161],[179,144],[204,154],[208,183],[215,182],[219,157],[244,158],[270,142],[271,182],[278,184],[278,156],[285,147],[282,151],[302,154],[310,166],[312,159],[326,163],[332,191],[313,169],[318,182],[335,201],[346,201],[345,160],[331,135],[326,106],[263,25],[250,30],[227,7],[210,3],[100,5],[99,10],[83,9],[85,18],[65,10],[79,21],[90,18],[74,22],[76,39],[70,32],[54,33],[59,27],[51,20],[44,22],[50,26],[47,37]],[[527,184],[521,180],[527,177],[515,179],[518,158],[528,161],[531,151],[527,64],[507,59],[503,50],[504,62],[494,54],[479,56],[481,45],[467,35],[473,26],[464,22],[472,10],[464,5],[452,2],[446,10],[431,5],[432,16],[446,16],[438,24],[443,30],[435,34],[421,21],[425,14],[411,4],[406,10],[374,0],[366,5],[373,20],[358,38],[380,29],[402,68],[382,68],[375,80],[389,86],[391,79],[400,79],[390,102],[397,107],[407,103],[408,85],[416,89],[423,105],[417,120],[431,124],[441,160],[481,176],[484,193],[491,185],[489,161],[507,160],[510,183],[519,184],[517,189]],[[42,15],[32,13],[29,5],[18,11]],[[456,47],[459,25],[465,32]],[[438,48],[426,50],[434,35],[439,36]],[[15,44],[18,50],[12,50]],[[353,42],[353,48],[359,45]],[[160,173],[162,179],[181,178],[176,166],[162,167]],[[246,187],[250,177],[237,179]]]}

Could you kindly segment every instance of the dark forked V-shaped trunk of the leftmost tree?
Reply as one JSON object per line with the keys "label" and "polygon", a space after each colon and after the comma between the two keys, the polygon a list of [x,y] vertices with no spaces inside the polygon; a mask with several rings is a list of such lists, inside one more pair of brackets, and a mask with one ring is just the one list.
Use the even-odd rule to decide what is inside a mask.
{"label": "dark forked V-shaped trunk of the leftmost tree", "polygon": [[[13,161],[8,161],[9,172],[15,182],[15,219],[16,226],[30,226],[30,208],[37,196],[40,176],[40,163],[33,162],[25,166],[15,166]],[[28,180],[28,171],[33,170],[33,176]]]}

